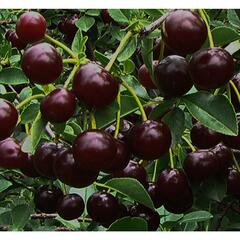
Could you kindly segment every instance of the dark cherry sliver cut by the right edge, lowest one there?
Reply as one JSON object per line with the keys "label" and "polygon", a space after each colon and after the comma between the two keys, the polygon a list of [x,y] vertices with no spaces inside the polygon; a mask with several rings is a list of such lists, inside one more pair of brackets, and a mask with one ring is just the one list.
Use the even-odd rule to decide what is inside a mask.
{"label": "dark cherry sliver cut by the right edge, lowest one there", "polygon": [[229,168],[227,177],[227,191],[240,200],[240,173],[237,169]]}

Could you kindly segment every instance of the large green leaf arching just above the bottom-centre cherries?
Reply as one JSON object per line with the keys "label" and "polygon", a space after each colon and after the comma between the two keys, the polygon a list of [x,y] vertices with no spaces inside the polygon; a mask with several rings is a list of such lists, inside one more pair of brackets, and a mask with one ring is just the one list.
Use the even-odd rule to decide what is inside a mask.
{"label": "large green leaf arching just above the bottom-centre cherries", "polygon": [[105,186],[110,187],[119,193],[143,204],[146,207],[154,209],[151,197],[143,187],[143,185],[134,178],[112,178],[104,183]]}

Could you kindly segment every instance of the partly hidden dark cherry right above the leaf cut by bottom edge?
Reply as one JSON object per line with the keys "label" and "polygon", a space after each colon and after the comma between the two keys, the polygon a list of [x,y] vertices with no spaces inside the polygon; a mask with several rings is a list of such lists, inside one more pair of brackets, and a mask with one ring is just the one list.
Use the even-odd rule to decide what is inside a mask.
{"label": "partly hidden dark cherry right above the leaf cut by bottom edge", "polygon": [[141,217],[148,224],[148,231],[156,231],[160,224],[160,216],[156,211],[142,205],[134,205],[130,208],[132,217]]}

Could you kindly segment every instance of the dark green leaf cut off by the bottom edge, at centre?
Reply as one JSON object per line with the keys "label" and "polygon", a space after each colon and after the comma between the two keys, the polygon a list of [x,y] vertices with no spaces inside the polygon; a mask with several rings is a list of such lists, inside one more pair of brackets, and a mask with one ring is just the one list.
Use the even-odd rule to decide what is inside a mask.
{"label": "dark green leaf cut off by the bottom edge, at centre", "polygon": [[107,231],[147,231],[146,220],[140,217],[124,217],[118,219],[108,228]]}

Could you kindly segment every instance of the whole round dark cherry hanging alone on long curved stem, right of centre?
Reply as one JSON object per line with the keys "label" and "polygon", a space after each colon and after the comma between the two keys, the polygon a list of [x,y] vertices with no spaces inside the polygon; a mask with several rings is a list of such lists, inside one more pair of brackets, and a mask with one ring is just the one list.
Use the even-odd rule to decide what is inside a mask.
{"label": "whole round dark cherry hanging alone on long curved stem, right of centre", "polygon": [[147,120],[131,129],[128,143],[136,157],[154,160],[168,152],[171,140],[170,129],[165,123]]}

